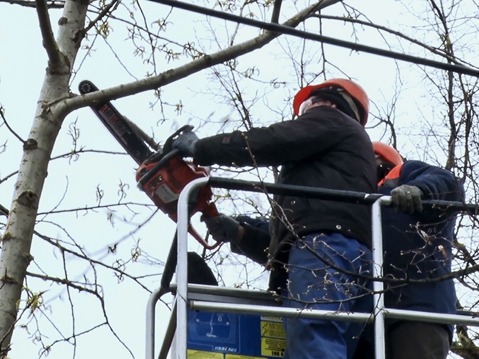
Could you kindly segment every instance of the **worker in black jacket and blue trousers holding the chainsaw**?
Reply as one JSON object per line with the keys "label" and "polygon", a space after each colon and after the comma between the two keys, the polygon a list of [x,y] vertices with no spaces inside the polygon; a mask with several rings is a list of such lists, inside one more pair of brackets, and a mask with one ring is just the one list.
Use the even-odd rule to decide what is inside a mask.
{"label": "worker in black jacket and blue trousers holding the chainsaw", "polygon": [[[374,192],[364,90],[350,80],[327,80],[302,88],[293,108],[298,117],[292,121],[205,139],[187,132],[173,147],[202,166],[281,166],[279,183]],[[270,238],[268,254],[258,259],[268,262],[270,289],[283,296],[283,306],[328,311],[366,307],[366,297],[357,299],[366,284],[355,274],[369,273],[371,264],[369,206],[285,195],[275,195],[272,203],[270,235],[256,232],[262,240]],[[345,358],[348,326],[344,321],[286,319],[284,358]]]}

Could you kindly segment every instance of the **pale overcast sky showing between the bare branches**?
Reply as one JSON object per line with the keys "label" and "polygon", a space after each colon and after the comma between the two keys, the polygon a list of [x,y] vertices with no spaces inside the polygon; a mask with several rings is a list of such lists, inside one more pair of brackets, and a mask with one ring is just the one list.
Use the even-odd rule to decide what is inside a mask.
{"label": "pale overcast sky showing between the bare branches", "polygon": [[[360,5],[364,6],[363,10],[369,18],[386,24],[383,2],[368,1],[367,4],[362,3]],[[142,1],[141,4],[148,14],[149,23],[154,21],[155,15],[161,17],[168,11],[168,7],[163,5],[146,1]],[[408,19],[407,14],[404,12],[404,9],[401,9],[398,1],[388,1],[388,7],[389,14],[397,14],[401,21]],[[340,6],[337,8],[340,8]],[[287,11],[286,6],[284,6],[284,11]],[[332,10],[326,12],[334,13]],[[33,9],[0,3],[0,13],[2,14],[2,20],[0,21],[0,44],[3,49],[0,55],[0,104],[4,108],[4,115],[9,125],[20,137],[25,139],[28,136],[35,113],[36,100],[38,99],[46,67],[46,56],[41,45],[40,32],[37,25],[38,20]],[[51,10],[50,14],[54,33],[56,33],[56,22],[61,16],[61,12],[59,10]],[[182,38],[179,42],[185,41],[188,38],[195,39],[196,36],[203,39],[212,36],[211,31],[198,22],[203,19],[202,15],[195,15],[182,10],[175,10],[174,15],[172,19],[175,22],[168,26],[177,28],[178,36]],[[389,20],[392,21],[394,18]],[[92,80],[98,87],[107,88],[145,76],[146,67],[141,65],[141,59],[131,56],[132,49],[129,46],[129,40],[123,25],[118,22],[112,24],[110,42],[122,59],[123,65],[116,61],[115,55],[103,39],[98,38],[93,55],[86,58],[72,82],[71,90],[73,92],[77,92],[77,85],[82,79]],[[220,29],[222,21],[212,20],[212,24],[215,29]],[[328,22],[328,24],[331,23]],[[195,26],[195,30],[193,30],[193,26]],[[397,24],[397,26],[399,27],[400,25]],[[349,26],[331,24],[331,28],[328,28],[327,32],[329,32],[329,35],[337,34],[340,38],[354,40],[354,38],[351,38]],[[248,38],[254,33],[256,33],[255,29],[244,28],[239,32],[237,41]],[[225,34],[223,30],[219,30],[216,35],[220,41],[224,40]],[[91,41],[92,37],[89,37],[89,40]],[[291,67],[291,60],[287,56],[289,51],[287,46],[290,40],[291,37],[283,36],[279,41],[273,41],[263,49],[240,58],[242,68],[245,68],[246,64],[255,66],[260,71],[261,78],[263,79],[278,77],[279,79],[290,81],[288,86],[277,89],[268,86],[268,84],[261,83],[257,83],[256,86],[248,85],[248,87],[244,88],[245,97],[251,97],[254,93],[257,93],[259,96],[266,94],[264,99],[261,99],[253,106],[255,109],[254,116],[259,119],[258,123],[274,122],[277,115],[271,111],[271,108],[282,109],[285,102],[298,89],[297,82],[294,80],[295,74]],[[382,41],[380,37],[372,31],[362,30],[358,33],[358,42],[360,43],[376,46],[380,41]],[[91,42],[84,41],[83,44],[91,44]],[[211,46],[215,48],[214,41]],[[318,43],[308,41],[306,49],[310,53],[318,53],[319,58],[321,48]],[[400,149],[405,155],[419,155],[421,150],[418,149],[418,143],[409,141],[415,141],[417,137],[415,137],[414,133],[415,121],[408,116],[408,113],[412,107],[416,108],[417,105],[422,107],[423,116],[428,116],[429,110],[427,105],[424,105],[428,103],[428,98],[422,96],[424,93],[411,91],[414,88],[420,88],[423,81],[418,76],[418,72],[413,69],[411,75],[408,75],[408,71],[411,69],[410,64],[404,62],[395,63],[393,60],[383,59],[376,55],[357,54],[347,49],[339,49],[328,45],[325,46],[325,49],[330,62],[354,77],[366,89],[372,100],[371,112],[373,114],[378,114],[378,107],[381,108],[385,103],[390,102],[394,96],[394,91],[399,85],[396,70],[399,69],[401,71],[401,89],[403,92],[407,92],[409,96],[400,96],[398,100],[401,111],[396,113],[396,115],[401,118],[399,125],[403,129],[401,133],[404,136],[403,141],[400,143]],[[78,65],[84,55],[85,50],[80,51],[75,69],[78,69]],[[298,53],[297,55],[299,58],[300,54]],[[165,65],[162,56],[162,54],[158,55],[159,63],[162,64],[162,66],[159,66],[159,71],[176,67],[177,63],[179,63],[173,61]],[[125,67],[128,71],[125,70]],[[318,60],[318,63],[312,63],[307,68],[307,71],[317,73],[320,69],[321,64]],[[329,67],[328,70],[335,76],[341,77],[341,73],[334,70],[333,67]],[[225,104],[221,96],[218,96],[219,87],[215,81],[217,80],[212,79],[209,71],[203,71],[200,74],[173,83],[162,89],[162,95],[165,96],[166,102],[172,105],[171,108],[167,107],[165,112],[174,121],[161,122],[162,117],[159,107],[156,106],[151,109],[149,106],[150,102],[154,101],[154,96],[151,92],[120,99],[115,101],[114,104],[146,132],[152,133],[154,131],[155,139],[158,141],[164,141],[177,126],[186,123],[194,124],[199,129],[198,135],[205,137],[216,134],[220,129],[220,123],[225,119],[238,119],[232,107]],[[172,108],[180,100],[184,104],[184,111],[181,114],[175,114]],[[205,124],[205,119],[209,119],[209,123]],[[411,129],[411,134],[408,134],[405,130],[408,128]],[[120,146],[112,139],[91,111],[89,109],[81,109],[70,114],[65,120],[52,156],[67,153],[72,149],[70,134],[75,129],[80,131],[79,144],[87,149],[122,152]],[[368,133],[372,140],[379,140],[383,134],[381,128],[370,128]],[[3,125],[0,126],[0,146],[4,143],[6,143],[6,151],[0,154],[0,179],[18,169],[22,154],[21,143]],[[439,162],[444,160],[441,153],[436,155]],[[128,201],[149,203],[144,193],[141,193],[135,187],[135,167],[135,163],[128,156],[122,155],[83,154],[77,161],[69,162],[65,159],[52,161],[49,166],[49,175],[45,182],[39,211],[47,212],[52,209],[92,205],[97,202],[96,188],[99,188],[104,195],[101,204],[116,203],[119,199],[118,184],[120,181],[129,185],[127,188]],[[10,205],[15,178],[15,176],[12,176],[0,184],[0,204],[7,208]],[[259,201],[259,197],[252,197]],[[220,208],[220,210],[227,212],[236,210],[228,201],[225,201],[224,205],[225,207]],[[157,214],[150,223],[133,237],[128,236],[127,234],[148,218],[153,210],[145,210],[139,206],[132,206],[131,208],[131,211],[125,210],[125,208],[118,208],[118,211],[113,213],[106,209],[99,209],[94,213],[90,211],[88,214],[86,212],[80,212],[78,215],[73,213],[56,214],[53,217],[46,217],[46,221],[39,223],[36,229],[42,234],[68,242],[70,242],[68,235],[71,235],[78,245],[84,248],[86,253],[93,255],[95,259],[104,260],[105,263],[110,265],[114,264],[115,260],[119,258],[128,257],[128,254],[135,246],[135,242],[138,240],[140,240],[143,248],[142,261],[146,262],[151,259],[147,255],[164,261],[174,233],[173,222],[165,215]],[[264,208],[267,208],[267,205],[264,205]],[[133,211],[136,210],[139,214],[134,215]],[[107,220],[110,214],[112,214],[113,224]],[[39,219],[42,219],[42,216],[39,216]],[[60,223],[61,226],[49,222],[50,220]],[[67,228],[68,235],[64,228]],[[117,253],[108,254],[107,245],[113,245],[117,242],[120,243]],[[198,246],[192,243],[192,248],[198,249]],[[32,254],[35,257],[35,262],[30,265],[29,271],[41,273],[44,270],[51,276],[64,276],[58,252],[53,251],[51,246],[46,245],[37,237],[33,238]],[[87,275],[90,279],[93,278],[93,271],[86,262],[72,257],[67,259],[70,279],[81,281],[83,275]],[[157,274],[144,282],[150,290],[159,285],[160,276],[158,274],[162,272],[162,267],[147,267],[144,263],[137,263],[132,266],[131,271],[136,274]],[[234,266],[232,266],[231,272],[227,273],[231,274],[230,278],[226,278],[229,285],[234,284],[238,278],[244,275],[244,273],[240,272],[240,267]],[[135,357],[143,358],[145,305],[148,293],[128,279],[124,279],[118,284],[118,279],[111,271],[100,269],[97,275],[98,282],[102,284],[105,293],[107,313],[111,325],[117,331],[118,336],[134,353]],[[253,275],[262,276],[262,280],[258,283],[265,285],[266,273],[261,274],[261,269],[256,267]],[[41,282],[31,280],[31,283],[32,290],[47,290],[44,298],[48,308],[47,312],[48,310],[50,311],[48,316],[55,318],[54,323],[58,327],[53,327],[45,317],[41,318],[41,326],[44,333],[47,333],[49,337],[45,339],[44,343],[51,344],[51,341],[59,338],[57,329],[65,333],[71,332],[70,321],[65,322],[65,327],[62,327],[63,324],[58,324],[62,322],[57,320],[64,316],[71,316],[68,296],[64,287],[53,285],[45,288],[46,284]],[[76,293],[72,293],[72,295],[80,299],[74,302],[77,333],[82,332],[88,326],[91,327],[95,318],[98,318],[98,323],[103,321],[96,299]],[[160,312],[158,318],[166,318],[168,314],[166,307],[159,305],[158,308]],[[157,319],[157,321],[161,321],[161,319]],[[29,322],[31,326],[29,328],[34,328],[35,326],[34,320],[27,319],[26,315],[22,318],[22,322]],[[160,323],[158,327],[159,337],[164,329],[164,323]],[[31,331],[16,329],[10,357],[37,357],[40,347],[31,344],[32,339],[30,337],[34,336],[35,334]],[[158,347],[159,343],[157,344]],[[55,345],[48,358],[63,359],[71,356],[71,348],[71,345],[64,343]],[[94,331],[92,334],[81,336],[78,339],[76,355],[77,358],[86,358],[87,356],[93,358],[105,356],[128,358],[128,352],[109,334],[109,330],[106,327]]]}

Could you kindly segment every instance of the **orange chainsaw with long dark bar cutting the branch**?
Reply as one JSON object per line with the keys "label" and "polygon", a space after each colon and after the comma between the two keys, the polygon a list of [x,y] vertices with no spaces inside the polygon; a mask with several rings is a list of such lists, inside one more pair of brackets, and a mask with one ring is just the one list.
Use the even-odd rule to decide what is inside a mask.
{"label": "orange chainsaw with long dark bar cutting the branch", "polygon": [[[81,81],[80,93],[98,91],[90,81]],[[155,205],[175,222],[178,220],[178,197],[182,189],[194,179],[208,177],[208,170],[185,161],[173,141],[183,132],[192,131],[193,126],[186,125],[171,135],[162,149],[152,151],[129,121],[110,103],[104,102],[90,106],[95,115],[110,131],[131,158],[139,165],[136,171],[138,187],[144,191]],[[217,216],[218,210],[212,202],[213,192],[210,187],[199,189],[196,201],[190,206],[190,215],[201,212],[209,217]],[[213,249],[220,242],[208,244],[190,224],[188,232],[205,248]]]}

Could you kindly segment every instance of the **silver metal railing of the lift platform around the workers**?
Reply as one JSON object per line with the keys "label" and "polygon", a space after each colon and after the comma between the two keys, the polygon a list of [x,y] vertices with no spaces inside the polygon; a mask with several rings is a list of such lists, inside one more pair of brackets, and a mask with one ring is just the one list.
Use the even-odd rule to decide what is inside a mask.
{"label": "silver metal railing of the lift platform around the workers", "polygon": [[[304,186],[281,185],[254,181],[244,181],[222,178],[201,178],[190,182],[180,193],[178,199],[178,264],[176,271],[177,284],[170,291],[176,291],[176,297],[169,321],[168,329],[158,357],[155,357],[155,305],[164,291],[158,289],[150,295],[146,312],[146,359],[166,359],[170,347],[174,345],[175,359],[187,359],[187,320],[188,310],[203,310],[208,312],[258,314],[277,317],[301,317],[345,320],[354,322],[374,322],[375,358],[385,358],[385,318],[408,319],[441,324],[461,324],[479,326],[479,318],[474,315],[440,314],[420,311],[399,310],[384,307],[384,284],[382,281],[374,281],[374,311],[373,313],[341,313],[323,310],[298,310],[294,308],[282,308],[273,303],[272,294],[266,291],[252,291],[236,288],[222,288],[215,286],[188,285],[187,251],[188,251],[188,224],[189,224],[189,199],[190,196],[204,186],[263,192],[268,194],[294,194],[308,198],[321,198],[339,200],[352,203],[372,205],[372,246],[373,246],[373,276],[381,278],[383,265],[382,230],[381,230],[381,206],[389,205],[391,197],[379,193],[362,193],[352,191],[331,190]],[[449,202],[439,200],[424,200],[424,206],[434,206],[438,209],[466,210],[477,214],[478,206],[461,202]],[[190,298],[189,294],[195,293],[196,298]],[[203,300],[198,299],[203,296]],[[224,297],[237,297],[250,299],[250,303],[224,302]],[[211,298],[216,300],[212,301]],[[269,299],[269,303],[268,303]],[[259,303],[259,304],[256,304]],[[175,343],[173,343],[175,342]]]}

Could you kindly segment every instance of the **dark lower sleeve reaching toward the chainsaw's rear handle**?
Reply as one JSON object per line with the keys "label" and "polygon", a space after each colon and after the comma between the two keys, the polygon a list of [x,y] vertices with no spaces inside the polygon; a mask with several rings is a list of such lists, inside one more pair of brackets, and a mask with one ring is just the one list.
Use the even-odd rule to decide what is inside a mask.
{"label": "dark lower sleeve reaching toward the chainsaw's rear handle", "polygon": [[238,216],[236,220],[244,228],[241,243],[231,244],[231,251],[245,255],[256,263],[265,265],[268,261],[269,221],[266,218],[250,218]]}

